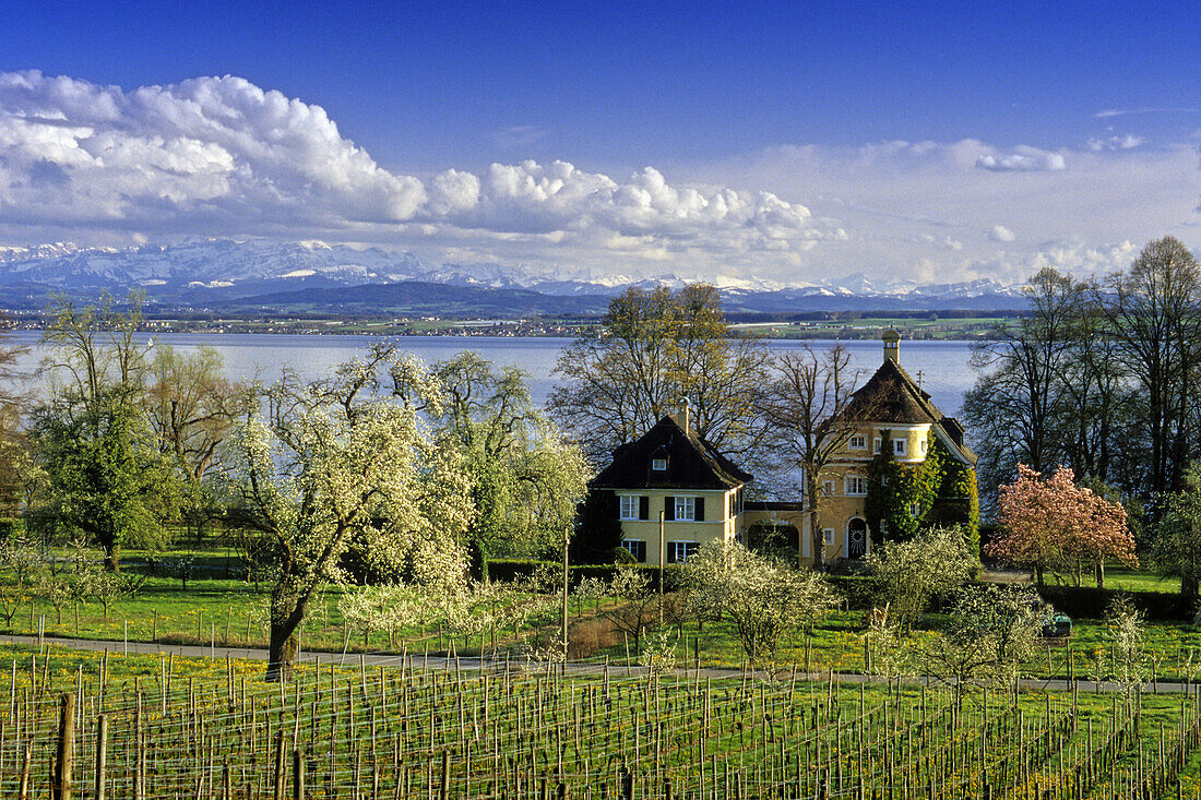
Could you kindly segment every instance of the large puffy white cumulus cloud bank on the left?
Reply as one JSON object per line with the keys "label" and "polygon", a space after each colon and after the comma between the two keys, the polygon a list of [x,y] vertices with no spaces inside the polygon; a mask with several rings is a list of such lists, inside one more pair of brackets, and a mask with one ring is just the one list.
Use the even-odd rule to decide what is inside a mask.
{"label": "large puffy white cumulus cloud bank on the left", "polygon": [[[516,147],[540,132],[507,135]],[[130,229],[417,237],[548,264],[650,258],[685,270],[766,263],[833,235],[803,205],[770,192],[676,185],[652,167],[623,181],[564,161],[396,174],[319,106],[237,77],[125,91],[0,73],[0,235]]]}

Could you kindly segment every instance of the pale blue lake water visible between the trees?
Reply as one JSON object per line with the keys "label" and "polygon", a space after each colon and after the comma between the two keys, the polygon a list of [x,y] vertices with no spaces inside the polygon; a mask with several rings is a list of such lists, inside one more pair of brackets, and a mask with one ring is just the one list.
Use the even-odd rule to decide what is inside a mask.
{"label": "pale blue lake water visible between the trees", "polygon": [[[32,352],[24,366],[32,368],[40,359],[36,332],[16,332],[13,340],[30,345]],[[149,338],[149,336],[148,336]],[[178,350],[190,350],[199,345],[215,347],[225,358],[226,372],[234,380],[256,376],[270,381],[285,366],[294,369],[303,378],[311,380],[328,375],[341,362],[352,358],[372,342],[376,336],[299,336],[285,334],[155,334],[155,342],[171,345]],[[426,363],[450,358],[468,350],[500,365],[519,366],[531,377],[534,401],[542,402],[555,384],[552,371],[560,351],[569,340],[549,338],[490,338],[490,336],[404,336],[400,347],[416,353]],[[777,351],[796,350],[808,344],[824,350],[833,344],[846,347],[855,368],[864,370],[864,378],[871,375],[883,358],[883,347],[877,341],[771,341]],[[975,381],[975,372],[968,365],[972,352],[967,341],[902,341],[901,364],[922,387],[930,392],[943,413],[956,416],[963,394]]]}

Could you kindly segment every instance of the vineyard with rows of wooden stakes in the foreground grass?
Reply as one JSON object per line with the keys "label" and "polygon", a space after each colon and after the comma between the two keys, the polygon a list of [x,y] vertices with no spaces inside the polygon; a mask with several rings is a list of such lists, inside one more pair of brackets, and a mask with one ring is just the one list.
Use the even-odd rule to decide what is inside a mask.
{"label": "vineyard with rows of wooden stakes in the foreground grass", "polygon": [[4,657],[6,798],[1201,796],[1196,693]]}

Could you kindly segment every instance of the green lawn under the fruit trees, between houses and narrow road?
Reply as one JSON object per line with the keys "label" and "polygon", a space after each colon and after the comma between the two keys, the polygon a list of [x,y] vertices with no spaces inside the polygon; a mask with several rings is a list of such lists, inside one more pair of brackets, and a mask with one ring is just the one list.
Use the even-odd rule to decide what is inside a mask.
{"label": "green lawn under the fruit trees, between houses and narrow road", "polygon": [[[141,554],[130,554],[130,561],[139,560]],[[201,574],[223,573],[227,565],[223,553],[192,551],[198,562],[216,567]],[[177,557],[172,554],[171,557]],[[1106,577],[1107,587],[1122,587],[1137,591],[1178,591],[1176,580],[1161,580],[1155,575],[1112,568]],[[330,587],[315,603],[301,629],[301,647],[304,650],[328,650],[349,652],[394,651],[407,649],[408,652],[446,652],[452,647],[462,655],[476,655],[480,651],[478,637],[452,639],[448,632],[437,628],[406,628],[389,643],[382,631],[352,629],[337,610],[337,601],[342,590]],[[97,603],[80,604],[54,609],[44,599],[26,598],[19,605],[11,622],[0,619],[0,631],[12,633],[36,633],[38,626],[44,632],[55,635],[130,640],[177,643],[199,643],[232,646],[265,646],[267,628],[265,584],[257,589],[241,580],[222,578],[192,579],[184,591],[183,584],[175,578],[150,577],[145,579],[138,595],[133,598],[116,601],[109,608],[107,619]],[[29,601],[32,602],[29,602]],[[610,601],[615,602],[615,601]],[[78,613],[78,617],[77,617]],[[573,619],[579,621],[594,615],[591,603],[581,609],[573,598]],[[922,669],[920,646],[936,635],[940,622],[938,615],[927,615],[922,625],[914,631],[904,647],[913,652],[912,669]],[[1074,621],[1074,633],[1065,644],[1048,645],[1045,651],[1027,664],[1027,673],[1036,677],[1068,677],[1075,674],[1087,679],[1110,671],[1110,639],[1105,623],[1094,619]],[[489,632],[484,638],[484,651],[503,653],[518,650],[538,640],[545,640],[557,629],[557,616],[546,615],[534,620],[532,625],[520,631],[503,629]],[[1147,626],[1145,643],[1147,655],[1147,674],[1154,674],[1160,680],[1201,680],[1201,631],[1184,622],[1157,622]],[[616,635],[615,644],[602,646],[588,658],[596,662],[626,663],[628,657],[637,661],[638,652],[633,641],[622,641]],[[733,629],[727,625],[687,622],[680,631],[676,647],[676,659],[681,664],[700,663],[711,667],[739,667],[746,656],[739,645]],[[1069,665],[1070,658],[1070,665]],[[835,611],[824,617],[819,625],[808,632],[799,632],[787,638],[776,656],[781,664],[796,664],[799,669],[808,667],[811,671],[866,671],[867,652],[864,637],[862,611]],[[1100,667],[1098,667],[1100,659]],[[1098,670],[1100,670],[1098,673]]]}

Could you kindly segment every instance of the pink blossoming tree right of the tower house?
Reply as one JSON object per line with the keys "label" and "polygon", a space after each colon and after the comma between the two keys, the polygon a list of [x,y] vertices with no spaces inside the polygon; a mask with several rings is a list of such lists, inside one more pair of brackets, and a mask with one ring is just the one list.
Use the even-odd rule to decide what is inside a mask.
{"label": "pink blossoming tree right of the tower house", "polygon": [[986,551],[1010,563],[1030,567],[1040,589],[1044,569],[1070,571],[1078,586],[1083,567],[1095,566],[1098,585],[1104,586],[1106,559],[1139,566],[1125,509],[1077,486],[1068,467],[1059,467],[1053,477],[1044,478],[1020,464],[1017,479],[999,486],[997,498],[1003,533]]}

